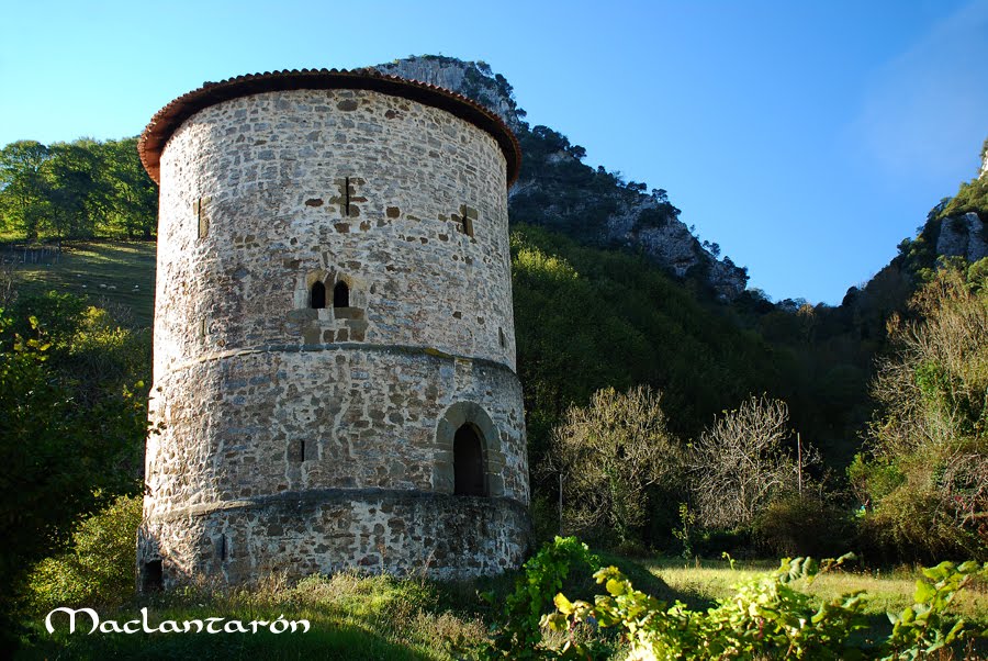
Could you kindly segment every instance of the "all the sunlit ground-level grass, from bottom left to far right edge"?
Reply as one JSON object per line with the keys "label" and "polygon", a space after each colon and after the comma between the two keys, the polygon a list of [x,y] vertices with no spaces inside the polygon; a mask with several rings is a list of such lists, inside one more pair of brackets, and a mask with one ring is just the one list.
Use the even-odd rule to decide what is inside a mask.
{"label": "all the sunlit ground-level grass, from bottom left to far right edge", "polygon": [[[726,562],[704,561],[684,567],[682,561],[653,560],[639,564],[630,559],[605,556],[617,562],[636,585],[662,600],[680,598],[704,608],[731,593],[730,586],[775,567],[757,562],[730,569]],[[886,575],[843,572],[821,576],[809,592],[821,597],[867,590],[868,613],[875,632],[887,628],[885,612],[912,604],[912,570]],[[423,579],[397,580],[344,572],[332,578],[312,576],[290,586],[270,581],[259,589],[233,594],[178,591],[150,598],[128,598],[123,606],[100,609],[102,619],[121,623],[139,618],[148,607],[149,620],[160,624],[207,617],[251,620],[308,619],[307,634],[221,635],[92,635],[69,636],[64,629],[48,635],[43,615],[29,619],[30,632],[19,659],[469,659],[487,637],[498,605],[478,598],[493,591],[495,604],[510,589],[513,576],[462,583],[437,583]],[[571,593],[572,594],[572,593]],[[957,610],[966,618],[988,625],[988,593],[979,585],[962,593]],[[884,625],[883,625],[884,621]],[[972,658],[979,658],[977,656]]]}

